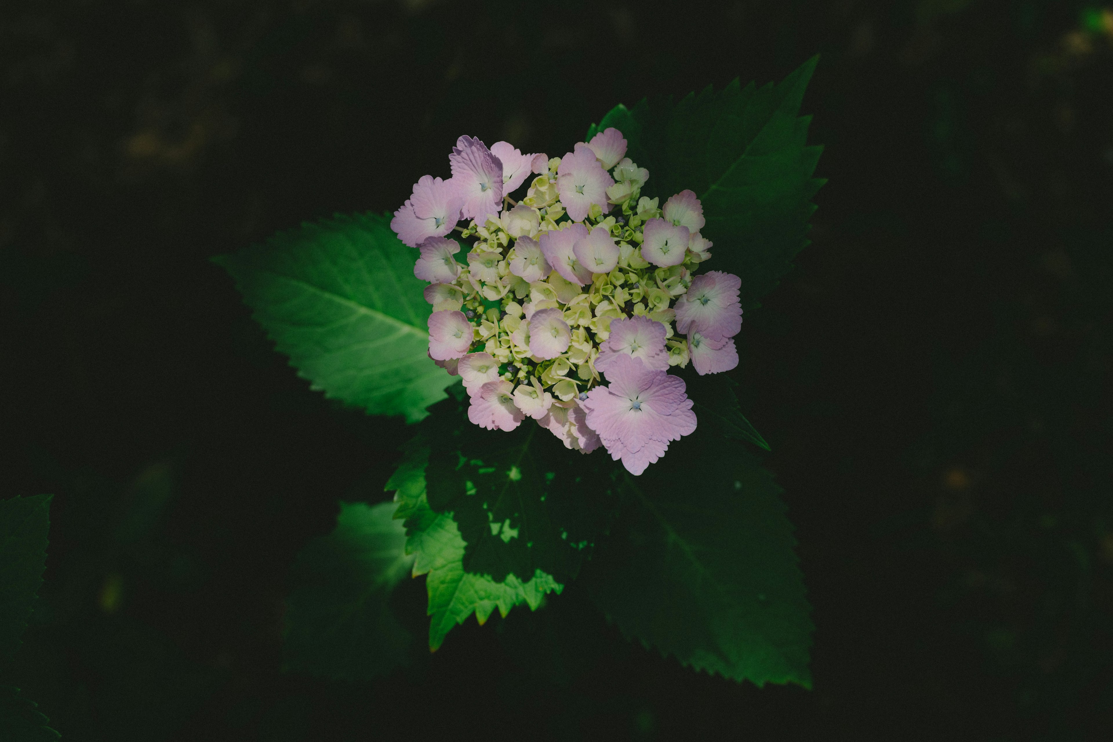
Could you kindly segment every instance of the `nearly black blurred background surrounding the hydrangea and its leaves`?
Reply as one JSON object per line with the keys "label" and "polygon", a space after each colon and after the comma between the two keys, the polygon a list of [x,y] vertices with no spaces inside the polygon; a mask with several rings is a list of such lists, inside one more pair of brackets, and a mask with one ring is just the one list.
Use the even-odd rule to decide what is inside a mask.
{"label": "nearly black blurred background surrounding the hydrangea and its leaves", "polygon": [[[1109,739],[1102,10],[7,0],[0,496],[56,498],[0,681],[73,741]],[[684,670],[574,585],[383,681],[280,672],[294,554],[385,497],[406,432],[309,392],[207,258],[394,209],[461,133],[559,156],[615,102],[816,52],[814,244],[740,336],[814,690]]]}

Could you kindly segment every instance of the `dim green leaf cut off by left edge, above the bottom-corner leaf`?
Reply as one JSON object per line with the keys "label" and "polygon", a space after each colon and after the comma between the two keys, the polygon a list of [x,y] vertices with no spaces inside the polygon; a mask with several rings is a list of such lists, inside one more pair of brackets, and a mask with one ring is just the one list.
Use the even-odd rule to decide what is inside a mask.
{"label": "dim green leaf cut off by left edge, above the bottom-corner leaf", "polygon": [[0,502],[0,665],[20,645],[47,566],[53,495]]}

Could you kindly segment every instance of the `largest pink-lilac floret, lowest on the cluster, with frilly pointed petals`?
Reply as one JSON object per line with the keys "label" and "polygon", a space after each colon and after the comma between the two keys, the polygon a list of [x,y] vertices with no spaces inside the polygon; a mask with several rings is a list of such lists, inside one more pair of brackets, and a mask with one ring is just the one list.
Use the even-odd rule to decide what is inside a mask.
{"label": "largest pink-lilac floret, lowest on the cluster, with frilly pointed petals", "polygon": [[608,386],[588,392],[580,405],[611,458],[622,459],[631,474],[644,472],[664,455],[670,441],[696,429],[692,400],[680,377],[619,356],[607,370],[607,380]]}

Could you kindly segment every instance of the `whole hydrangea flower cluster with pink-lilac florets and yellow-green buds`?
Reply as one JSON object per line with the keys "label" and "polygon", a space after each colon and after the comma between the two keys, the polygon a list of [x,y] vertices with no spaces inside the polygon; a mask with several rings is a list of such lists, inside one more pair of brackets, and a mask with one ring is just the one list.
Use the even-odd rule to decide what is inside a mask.
{"label": "whole hydrangea flower cluster with pink-lilac florets and yellow-green buds", "polygon": [[626,151],[614,128],[551,159],[461,137],[452,177],[423,176],[391,227],[420,251],[429,355],[462,378],[471,422],[531,417],[641,474],[696,429],[669,368],[738,365],[741,281],[692,275],[711,257],[703,207],[690,190],[660,207],[642,196],[649,171]]}

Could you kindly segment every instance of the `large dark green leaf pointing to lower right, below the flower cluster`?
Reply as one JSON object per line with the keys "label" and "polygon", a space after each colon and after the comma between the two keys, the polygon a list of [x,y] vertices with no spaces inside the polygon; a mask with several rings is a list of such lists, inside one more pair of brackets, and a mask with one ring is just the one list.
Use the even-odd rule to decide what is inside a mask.
{"label": "large dark green leaf pointing to lower right, below the flower cluster", "polygon": [[670,465],[628,478],[581,584],[627,637],[684,665],[810,686],[812,625],[780,488],[738,443],[673,446]]}

